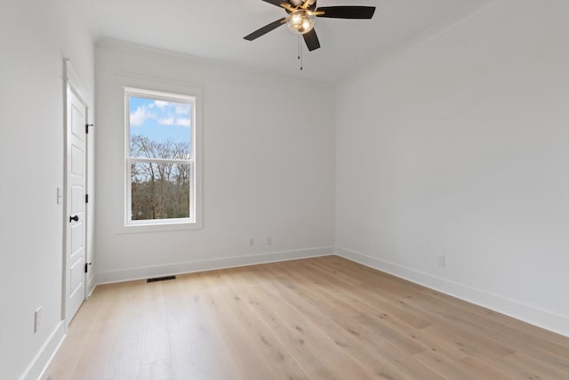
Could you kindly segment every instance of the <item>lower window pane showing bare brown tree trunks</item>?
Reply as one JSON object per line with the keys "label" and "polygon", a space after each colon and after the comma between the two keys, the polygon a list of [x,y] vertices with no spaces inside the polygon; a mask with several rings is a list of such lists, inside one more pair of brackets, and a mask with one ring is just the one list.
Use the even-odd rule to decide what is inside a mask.
{"label": "lower window pane showing bare brown tree trunks", "polygon": [[190,165],[131,164],[132,221],[188,218]]}

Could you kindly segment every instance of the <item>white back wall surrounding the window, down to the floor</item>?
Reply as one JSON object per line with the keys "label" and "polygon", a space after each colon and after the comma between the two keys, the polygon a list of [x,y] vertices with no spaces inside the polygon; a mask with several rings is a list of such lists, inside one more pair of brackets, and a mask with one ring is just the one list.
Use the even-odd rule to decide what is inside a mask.
{"label": "white back wall surrounding the window, down to the floor", "polygon": [[[108,40],[96,57],[99,282],[333,252],[332,86]],[[203,229],[121,233],[117,74],[203,87]]]}

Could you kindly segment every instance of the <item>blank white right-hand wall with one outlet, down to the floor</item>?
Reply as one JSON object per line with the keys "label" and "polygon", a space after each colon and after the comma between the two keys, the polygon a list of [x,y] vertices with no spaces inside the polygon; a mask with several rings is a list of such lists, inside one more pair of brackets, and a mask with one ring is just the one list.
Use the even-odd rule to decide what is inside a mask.
{"label": "blank white right-hand wall with one outlet, down to the floor", "polygon": [[339,87],[341,255],[569,335],[568,20],[504,0]]}

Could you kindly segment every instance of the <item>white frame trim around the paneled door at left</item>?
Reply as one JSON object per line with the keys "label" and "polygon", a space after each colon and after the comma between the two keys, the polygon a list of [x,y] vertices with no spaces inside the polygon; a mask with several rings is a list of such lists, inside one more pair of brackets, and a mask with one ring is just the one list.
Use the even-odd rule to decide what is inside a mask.
{"label": "white frame trim around the paneled door at left", "polygon": [[[69,213],[70,210],[68,209],[68,144],[69,142],[69,133],[71,129],[71,125],[68,123],[68,114],[69,114],[69,99],[68,99],[68,92],[73,92],[75,96],[81,101],[85,107],[85,123],[92,124],[92,107],[90,106],[91,102],[89,101],[90,98],[88,93],[85,91],[84,86],[81,84],[79,77],[76,74],[75,69],[71,65],[69,59],[65,58],[63,60],[63,107],[64,107],[64,159],[63,159],[63,266],[61,271],[61,296],[63,302],[61,303],[61,319],[65,320],[65,327],[68,328],[69,323],[71,322],[66,317],[66,311],[68,309],[68,299],[69,299],[69,289],[68,289],[68,228],[69,228]],[[90,188],[89,183],[89,173],[90,173],[90,158],[89,158],[90,150],[89,150],[89,133],[85,133],[85,194],[88,193]],[[90,213],[88,204],[85,205],[84,208],[84,223],[85,223],[85,233],[84,233],[84,263],[87,263],[88,258],[91,256],[91,252],[89,249],[89,239],[92,238],[89,236],[89,228],[92,225],[92,213]],[[92,271],[92,268],[90,268]],[[83,274],[84,276],[84,300],[90,295],[92,289],[89,288],[87,279],[88,276],[86,273]]]}

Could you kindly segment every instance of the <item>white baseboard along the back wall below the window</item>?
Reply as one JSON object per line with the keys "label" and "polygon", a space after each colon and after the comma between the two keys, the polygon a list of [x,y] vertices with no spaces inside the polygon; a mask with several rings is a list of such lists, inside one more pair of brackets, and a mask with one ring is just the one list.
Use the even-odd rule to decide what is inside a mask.
{"label": "white baseboard along the back wall below the window", "polygon": [[134,279],[148,279],[152,277],[168,276],[195,271],[212,271],[217,269],[235,268],[244,265],[260,263],[275,263],[287,260],[304,259],[309,257],[334,255],[334,247],[317,247],[299,249],[294,251],[269,252],[258,255],[236,257],[222,257],[212,260],[201,260],[187,263],[174,263],[160,266],[149,266],[123,271],[103,271],[96,275],[97,284],[131,281]]}

